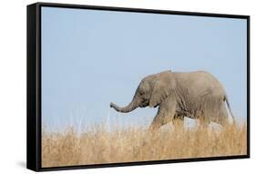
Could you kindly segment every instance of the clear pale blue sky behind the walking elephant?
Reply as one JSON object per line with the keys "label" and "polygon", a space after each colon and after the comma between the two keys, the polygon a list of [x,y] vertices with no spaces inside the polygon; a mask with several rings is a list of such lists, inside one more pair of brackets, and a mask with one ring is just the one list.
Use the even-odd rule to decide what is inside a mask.
{"label": "clear pale blue sky behind the walking elephant", "polygon": [[46,128],[145,125],[157,108],[120,114],[139,81],[164,70],[220,80],[233,114],[247,116],[245,19],[42,8],[42,121]]}

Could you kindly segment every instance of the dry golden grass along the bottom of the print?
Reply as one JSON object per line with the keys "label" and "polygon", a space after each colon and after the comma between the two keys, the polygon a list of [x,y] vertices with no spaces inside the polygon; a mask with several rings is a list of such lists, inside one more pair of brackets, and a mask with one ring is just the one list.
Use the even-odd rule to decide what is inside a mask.
{"label": "dry golden grass along the bottom of the print", "polygon": [[77,134],[43,133],[42,166],[56,167],[158,159],[188,159],[243,155],[247,151],[246,125],[221,130],[139,128],[107,131],[104,126]]}

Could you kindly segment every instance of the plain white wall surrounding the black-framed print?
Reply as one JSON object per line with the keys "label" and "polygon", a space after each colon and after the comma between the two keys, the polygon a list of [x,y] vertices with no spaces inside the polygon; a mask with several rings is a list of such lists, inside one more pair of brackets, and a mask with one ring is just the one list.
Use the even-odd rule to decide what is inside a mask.
{"label": "plain white wall surrounding the black-framed print", "polygon": [[[0,173],[32,173],[26,169],[26,1],[1,1],[0,5]],[[251,15],[251,88],[254,68],[256,10],[253,0],[56,0],[81,5],[114,5],[206,13]],[[251,91],[255,104],[255,92]],[[251,159],[233,159],[108,169],[68,170],[62,173],[246,173],[255,170],[255,107],[251,108]],[[50,172],[55,173],[55,172]]]}

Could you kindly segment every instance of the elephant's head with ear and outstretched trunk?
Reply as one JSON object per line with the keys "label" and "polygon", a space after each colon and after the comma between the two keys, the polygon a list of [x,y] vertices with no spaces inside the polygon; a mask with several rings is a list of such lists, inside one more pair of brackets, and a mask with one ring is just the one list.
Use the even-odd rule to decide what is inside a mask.
{"label": "elephant's head with ear and outstretched trunk", "polygon": [[170,95],[173,87],[175,87],[175,79],[170,71],[150,75],[141,80],[127,107],[118,107],[114,103],[110,103],[110,107],[124,113],[137,107],[158,107],[161,101]]}

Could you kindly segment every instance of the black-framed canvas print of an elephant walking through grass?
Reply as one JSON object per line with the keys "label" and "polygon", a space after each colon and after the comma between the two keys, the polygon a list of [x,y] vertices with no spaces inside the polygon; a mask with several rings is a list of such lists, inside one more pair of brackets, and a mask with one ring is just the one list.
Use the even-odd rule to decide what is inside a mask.
{"label": "black-framed canvas print of an elephant walking through grass", "polygon": [[27,6],[27,168],[250,157],[250,16]]}

